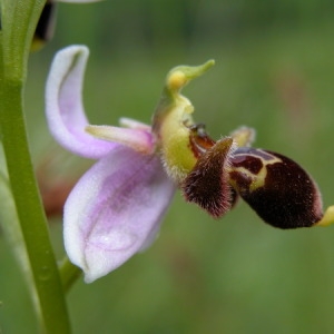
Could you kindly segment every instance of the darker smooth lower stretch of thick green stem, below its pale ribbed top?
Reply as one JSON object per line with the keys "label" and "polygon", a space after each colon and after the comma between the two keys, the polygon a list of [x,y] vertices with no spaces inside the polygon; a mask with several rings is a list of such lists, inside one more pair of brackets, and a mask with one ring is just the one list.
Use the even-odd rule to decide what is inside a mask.
{"label": "darker smooth lower stretch of thick green stem, below its pale ribbed top", "polygon": [[70,333],[63,291],[30,160],[22,116],[22,89],[7,80],[2,86],[2,144],[46,333]]}

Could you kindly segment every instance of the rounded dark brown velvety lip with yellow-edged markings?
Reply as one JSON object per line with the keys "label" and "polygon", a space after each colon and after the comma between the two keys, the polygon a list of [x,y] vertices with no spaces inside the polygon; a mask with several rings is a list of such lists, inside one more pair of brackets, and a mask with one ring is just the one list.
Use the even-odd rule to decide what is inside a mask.
{"label": "rounded dark brown velvety lip with yellow-edged markings", "polygon": [[321,194],[308,174],[279,154],[239,148],[230,159],[230,184],[266,223],[310,227],[322,216]]}

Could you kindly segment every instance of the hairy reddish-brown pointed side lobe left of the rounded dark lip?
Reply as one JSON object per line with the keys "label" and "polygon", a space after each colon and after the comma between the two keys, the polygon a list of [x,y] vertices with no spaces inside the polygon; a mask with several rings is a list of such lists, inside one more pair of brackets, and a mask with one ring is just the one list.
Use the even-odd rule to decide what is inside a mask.
{"label": "hairy reddish-brown pointed side lobe left of the rounded dark lip", "polygon": [[181,184],[185,198],[216,218],[228,212],[237,197],[228,184],[227,167],[233,150],[230,137],[218,140],[198,158]]}

